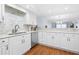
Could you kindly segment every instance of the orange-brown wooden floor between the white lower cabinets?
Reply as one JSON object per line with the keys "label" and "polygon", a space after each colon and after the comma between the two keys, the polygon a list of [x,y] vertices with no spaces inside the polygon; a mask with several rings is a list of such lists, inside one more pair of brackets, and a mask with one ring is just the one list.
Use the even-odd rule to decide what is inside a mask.
{"label": "orange-brown wooden floor between the white lower cabinets", "polygon": [[74,54],[55,48],[49,48],[43,45],[36,45],[30,51],[28,51],[28,53],[25,53],[25,55],[74,55]]}

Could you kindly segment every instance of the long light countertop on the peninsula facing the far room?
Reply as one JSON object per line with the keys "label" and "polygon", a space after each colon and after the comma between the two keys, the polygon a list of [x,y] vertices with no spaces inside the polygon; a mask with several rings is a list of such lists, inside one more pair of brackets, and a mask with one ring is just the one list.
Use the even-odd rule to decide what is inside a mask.
{"label": "long light countertop on the peninsula facing the far room", "polygon": [[38,31],[79,34],[79,29],[41,29]]}

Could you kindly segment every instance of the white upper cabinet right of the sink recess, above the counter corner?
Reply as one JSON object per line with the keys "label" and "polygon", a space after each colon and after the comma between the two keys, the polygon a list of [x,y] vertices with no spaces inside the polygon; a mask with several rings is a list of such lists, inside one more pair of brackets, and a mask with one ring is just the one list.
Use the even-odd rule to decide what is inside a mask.
{"label": "white upper cabinet right of the sink recess, above the counter corner", "polygon": [[27,8],[26,4],[16,4],[16,5],[26,10],[25,24],[37,25],[36,15],[30,9]]}

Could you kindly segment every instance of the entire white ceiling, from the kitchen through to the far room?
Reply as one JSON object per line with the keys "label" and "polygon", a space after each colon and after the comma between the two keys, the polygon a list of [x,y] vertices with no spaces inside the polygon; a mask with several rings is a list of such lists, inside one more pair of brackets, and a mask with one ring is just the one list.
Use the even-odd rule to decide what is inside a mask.
{"label": "entire white ceiling, from the kitchen through to the far room", "polygon": [[21,6],[50,20],[79,19],[79,4],[21,4]]}

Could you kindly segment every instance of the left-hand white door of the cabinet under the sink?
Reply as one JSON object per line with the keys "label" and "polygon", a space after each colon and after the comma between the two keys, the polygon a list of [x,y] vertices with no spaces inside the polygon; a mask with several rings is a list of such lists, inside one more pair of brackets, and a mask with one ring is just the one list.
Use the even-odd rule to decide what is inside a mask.
{"label": "left-hand white door of the cabinet under the sink", "polygon": [[21,50],[21,36],[16,36],[16,37],[12,37],[11,39],[9,39],[9,47],[10,47],[10,54],[22,54]]}

